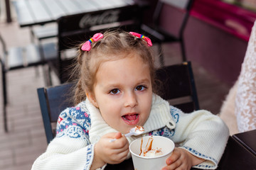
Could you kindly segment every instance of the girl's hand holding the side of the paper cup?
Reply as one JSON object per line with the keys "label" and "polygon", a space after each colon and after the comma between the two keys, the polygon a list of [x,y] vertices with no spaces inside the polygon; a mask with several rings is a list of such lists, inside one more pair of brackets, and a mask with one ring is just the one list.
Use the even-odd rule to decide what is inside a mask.
{"label": "girl's hand holding the side of the paper cup", "polygon": [[204,159],[193,156],[193,154],[187,152],[185,149],[176,147],[171,157],[166,159],[166,164],[162,170],[188,170],[192,166],[201,164]]}

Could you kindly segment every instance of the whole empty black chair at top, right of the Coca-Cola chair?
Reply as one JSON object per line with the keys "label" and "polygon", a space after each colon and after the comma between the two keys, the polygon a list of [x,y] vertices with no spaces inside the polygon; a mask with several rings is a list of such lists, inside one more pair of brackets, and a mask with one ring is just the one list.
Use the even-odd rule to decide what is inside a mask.
{"label": "whole empty black chair at top, right of the Coca-Cola chair", "polygon": [[[142,32],[145,35],[149,35],[151,41],[153,43],[159,44],[159,54],[160,54],[160,63],[164,66],[164,56],[162,54],[161,43],[164,42],[179,42],[181,45],[181,55],[183,62],[186,62],[186,50],[183,40],[183,32],[186,28],[186,23],[188,21],[189,13],[191,11],[191,7],[193,4],[193,0],[159,0],[156,4],[156,8],[153,15],[153,21],[148,26],[142,25]],[[164,30],[164,28],[159,23],[161,18],[168,18],[169,16],[163,16],[162,9],[166,6],[171,7],[169,10],[178,10],[183,11],[183,17],[181,18],[181,24],[173,23],[175,25],[178,24],[178,34],[175,35],[174,33],[169,33],[168,31]]]}

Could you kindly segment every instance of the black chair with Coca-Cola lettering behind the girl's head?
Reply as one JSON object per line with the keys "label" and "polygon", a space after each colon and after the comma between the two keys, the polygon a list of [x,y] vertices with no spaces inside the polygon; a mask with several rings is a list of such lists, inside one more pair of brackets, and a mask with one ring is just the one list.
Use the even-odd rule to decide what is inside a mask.
{"label": "black chair with Coca-Cola lettering behind the girl's head", "polygon": [[58,75],[60,83],[70,80],[70,65],[75,56],[66,55],[68,50],[78,47],[81,42],[89,40],[95,33],[105,30],[114,28],[139,30],[142,25],[142,12],[142,7],[134,4],[60,17],[58,19],[58,63],[50,64]]}

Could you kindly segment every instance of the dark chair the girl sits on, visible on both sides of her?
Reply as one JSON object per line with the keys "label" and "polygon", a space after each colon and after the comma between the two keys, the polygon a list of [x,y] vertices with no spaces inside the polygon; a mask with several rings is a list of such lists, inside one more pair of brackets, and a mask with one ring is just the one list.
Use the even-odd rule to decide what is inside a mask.
{"label": "dark chair the girl sits on, visible on both sides of her", "polygon": [[[199,109],[191,62],[157,69],[156,79],[158,79],[156,81],[158,82],[156,84],[159,89],[158,94],[162,98],[168,100],[171,104],[175,101],[174,106],[185,113],[191,113]],[[74,84],[63,84],[38,89],[38,98],[48,143],[55,136],[51,123],[56,123],[60,112],[73,105],[68,100],[70,96],[73,96],[73,86]]]}

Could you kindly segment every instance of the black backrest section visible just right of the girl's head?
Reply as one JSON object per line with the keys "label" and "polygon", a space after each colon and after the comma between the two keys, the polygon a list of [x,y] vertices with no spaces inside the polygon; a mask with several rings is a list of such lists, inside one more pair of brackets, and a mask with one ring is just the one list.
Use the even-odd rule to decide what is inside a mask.
{"label": "black backrest section visible just right of the girl's head", "polygon": [[191,62],[161,67],[156,70],[156,80],[159,96],[172,106],[184,113],[199,109]]}

